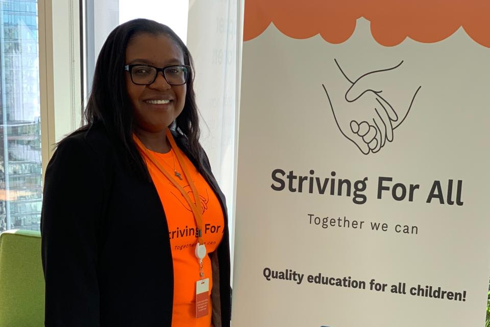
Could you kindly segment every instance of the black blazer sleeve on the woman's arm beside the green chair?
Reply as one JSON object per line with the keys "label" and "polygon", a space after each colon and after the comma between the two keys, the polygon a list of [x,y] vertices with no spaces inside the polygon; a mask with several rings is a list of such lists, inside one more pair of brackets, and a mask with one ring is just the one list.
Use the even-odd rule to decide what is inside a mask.
{"label": "black blazer sleeve on the woman's arm beside the green chair", "polygon": [[97,239],[103,216],[103,173],[82,138],[68,137],[44,179],[41,252],[45,326],[99,326]]}

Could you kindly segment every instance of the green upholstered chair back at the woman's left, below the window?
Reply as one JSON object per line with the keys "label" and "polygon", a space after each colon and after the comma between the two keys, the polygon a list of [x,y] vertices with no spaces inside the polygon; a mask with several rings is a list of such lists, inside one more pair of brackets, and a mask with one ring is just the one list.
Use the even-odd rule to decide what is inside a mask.
{"label": "green upholstered chair back at the woman's left, below the window", "polygon": [[41,233],[0,234],[0,327],[44,326]]}

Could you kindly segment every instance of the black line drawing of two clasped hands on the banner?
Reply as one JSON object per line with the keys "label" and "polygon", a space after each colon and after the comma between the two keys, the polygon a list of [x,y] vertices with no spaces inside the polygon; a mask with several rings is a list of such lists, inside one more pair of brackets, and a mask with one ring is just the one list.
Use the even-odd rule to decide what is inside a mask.
{"label": "black line drawing of two clasped hands on the banner", "polygon": [[396,66],[363,74],[354,81],[337,59],[334,61],[348,88],[339,96],[329,93],[325,84],[322,86],[337,127],[363,154],[377,153],[387,142],[393,142],[394,130],[405,121],[421,86],[400,85],[398,81],[406,80],[400,68],[403,60]]}

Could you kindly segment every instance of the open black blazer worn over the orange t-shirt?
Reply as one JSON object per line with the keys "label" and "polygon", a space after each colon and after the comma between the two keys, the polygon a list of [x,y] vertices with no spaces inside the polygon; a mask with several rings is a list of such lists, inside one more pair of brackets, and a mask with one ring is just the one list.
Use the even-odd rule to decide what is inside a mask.
{"label": "open black blazer worn over the orange t-shirt", "polygon": [[[184,137],[176,137],[187,151]],[[230,326],[225,197],[203,151],[204,178],[225,232],[210,254],[215,327]],[[102,124],[65,138],[47,166],[41,212],[46,326],[171,325],[174,274],[165,213],[153,182],[121,159]]]}

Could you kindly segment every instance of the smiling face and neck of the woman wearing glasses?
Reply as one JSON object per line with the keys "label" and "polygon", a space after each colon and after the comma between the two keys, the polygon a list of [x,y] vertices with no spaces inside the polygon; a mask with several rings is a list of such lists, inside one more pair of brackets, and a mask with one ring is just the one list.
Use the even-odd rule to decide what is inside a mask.
{"label": "smiling face and neck of the woman wearing glasses", "polygon": [[[161,142],[165,131],[184,108],[186,85],[183,74],[177,79],[167,79],[166,69],[156,67],[184,64],[181,48],[165,34],[140,34],[131,39],[126,48],[126,63],[132,66],[125,75],[126,90],[132,103],[136,120],[135,134],[150,150],[168,152],[170,145]],[[134,64],[137,64],[134,66]],[[144,68],[144,69],[143,69]],[[185,70],[187,68],[184,66]],[[172,71],[170,71],[172,72]],[[178,75],[178,74],[177,74]]]}

